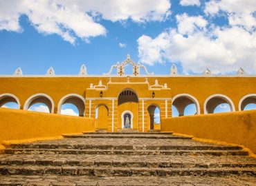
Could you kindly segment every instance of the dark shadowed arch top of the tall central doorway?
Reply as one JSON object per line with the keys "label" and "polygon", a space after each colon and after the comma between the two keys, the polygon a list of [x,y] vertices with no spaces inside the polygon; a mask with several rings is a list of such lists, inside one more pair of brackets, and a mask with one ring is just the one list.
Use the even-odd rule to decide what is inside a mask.
{"label": "dark shadowed arch top of the tall central doorway", "polygon": [[125,88],[118,94],[118,105],[127,102],[138,103],[138,94],[131,88]]}

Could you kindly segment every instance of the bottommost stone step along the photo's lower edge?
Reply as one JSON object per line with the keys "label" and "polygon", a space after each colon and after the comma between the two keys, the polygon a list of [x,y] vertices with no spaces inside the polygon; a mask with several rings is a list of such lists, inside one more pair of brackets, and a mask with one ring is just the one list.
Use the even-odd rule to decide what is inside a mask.
{"label": "bottommost stone step along the photo's lower edge", "polygon": [[116,186],[116,185],[133,185],[133,186],[156,186],[156,185],[251,185],[254,186],[256,178],[251,176],[0,176],[0,185],[44,185],[44,186]]}

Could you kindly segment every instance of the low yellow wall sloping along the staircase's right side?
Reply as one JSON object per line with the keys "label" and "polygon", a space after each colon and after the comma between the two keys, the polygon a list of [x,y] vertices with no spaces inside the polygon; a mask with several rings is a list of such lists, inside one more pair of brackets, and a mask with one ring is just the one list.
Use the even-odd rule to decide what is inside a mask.
{"label": "low yellow wall sloping along the staircase's right side", "polygon": [[162,118],[161,131],[244,145],[256,153],[256,110]]}

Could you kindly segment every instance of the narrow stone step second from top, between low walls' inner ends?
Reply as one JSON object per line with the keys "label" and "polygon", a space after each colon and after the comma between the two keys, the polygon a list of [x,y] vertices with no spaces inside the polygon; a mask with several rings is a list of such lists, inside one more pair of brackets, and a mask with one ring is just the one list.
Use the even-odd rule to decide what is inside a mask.
{"label": "narrow stone step second from top, between low walls' inner ends", "polygon": [[157,135],[157,134],[84,134],[84,135],[63,135],[65,138],[152,138],[152,139],[191,139],[191,137]]}

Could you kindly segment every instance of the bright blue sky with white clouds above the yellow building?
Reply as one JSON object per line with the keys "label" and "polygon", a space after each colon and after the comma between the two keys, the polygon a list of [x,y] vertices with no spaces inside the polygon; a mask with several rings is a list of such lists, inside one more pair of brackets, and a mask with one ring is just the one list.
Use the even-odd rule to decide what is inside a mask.
{"label": "bright blue sky with white clouds above the yellow building", "polygon": [[102,74],[127,54],[155,74],[256,74],[255,51],[256,1],[0,0],[0,74]]}

